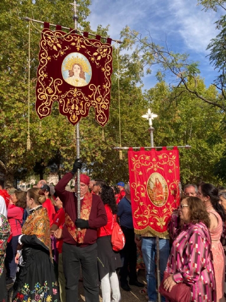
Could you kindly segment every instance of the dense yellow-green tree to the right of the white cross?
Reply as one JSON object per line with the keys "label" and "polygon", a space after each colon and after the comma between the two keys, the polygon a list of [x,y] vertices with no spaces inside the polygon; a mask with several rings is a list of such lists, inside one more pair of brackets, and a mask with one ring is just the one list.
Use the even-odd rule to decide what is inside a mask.
{"label": "dense yellow-green tree to the right of the white cross", "polygon": [[[210,97],[214,88],[205,90],[203,81],[197,89]],[[189,84],[192,89],[192,84]],[[150,106],[158,118],[155,127],[155,145],[191,145],[190,149],[179,148],[180,176],[182,184],[203,180],[221,184],[213,175],[213,167],[222,156],[226,134],[220,132],[224,113],[210,108],[201,100],[181,95],[171,102],[171,91],[161,82],[146,93]]]}

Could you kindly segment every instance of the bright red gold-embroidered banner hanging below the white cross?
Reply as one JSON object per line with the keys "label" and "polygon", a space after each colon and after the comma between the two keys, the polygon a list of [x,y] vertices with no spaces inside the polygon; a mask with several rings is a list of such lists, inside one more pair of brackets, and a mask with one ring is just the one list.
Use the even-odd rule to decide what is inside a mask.
{"label": "bright red gold-embroidered banner hanging below the white cross", "polygon": [[167,223],[178,206],[179,152],[177,147],[161,151],[128,152],[131,204],[135,233],[167,234]]}

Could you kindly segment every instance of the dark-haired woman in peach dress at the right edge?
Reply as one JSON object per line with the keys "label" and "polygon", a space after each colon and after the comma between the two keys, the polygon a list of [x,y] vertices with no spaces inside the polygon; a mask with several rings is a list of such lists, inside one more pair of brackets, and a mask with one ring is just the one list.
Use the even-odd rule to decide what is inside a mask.
{"label": "dark-haired woman in peach dress at the right edge", "polygon": [[219,203],[218,189],[212,184],[201,184],[198,187],[198,197],[203,202],[210,218],[210,236],[212,241],[213,266],[216,280],[216,300],[225,301],[224,299],[224,274],[225,274],[225,257],[223,247],[220,243],[222,234],[222,221],[226,221],[226,214],[223,206]]}

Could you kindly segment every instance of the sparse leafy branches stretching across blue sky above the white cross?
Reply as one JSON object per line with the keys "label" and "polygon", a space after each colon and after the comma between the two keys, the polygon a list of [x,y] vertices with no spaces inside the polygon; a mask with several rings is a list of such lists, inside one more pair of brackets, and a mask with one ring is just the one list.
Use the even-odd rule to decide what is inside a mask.
{"label": "sparse leafy branches stretching across blue sky above the white cross", "polygon": [[[197,90],[198,81],[200,81],[200,70],[198,62],[189,60],[189,54],[175,53],[167,45],[158,45],[153,42],[152,37],[146,36],[142,38],[141,34],[135,30],[126,27],[122,31],[124,39],[124,47],[136,47],[135,53],[140,57],[141,64],[147,68],[147,72],[151,72],[153,65],[157,64],[159,70],[156,74],[157,79],[171,79],[169,84],[172,87],[172,96],[176,100],[181,94],[194,96],[197,100],[220,108],[226,112],[225,96],[222,87],[213,84],[217,90],[214,95],[206,97]],[[190,82],[193,86],[189,86]]]}

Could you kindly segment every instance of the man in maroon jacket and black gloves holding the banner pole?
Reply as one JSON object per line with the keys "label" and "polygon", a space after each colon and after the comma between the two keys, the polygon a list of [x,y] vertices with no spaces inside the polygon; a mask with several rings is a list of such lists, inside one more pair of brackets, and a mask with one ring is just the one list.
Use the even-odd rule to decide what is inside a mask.
{"label": "man in maroon jacket and black gloves holding the banner pole", "polygon": [[[106,211],[98,195],[88,190],[89,177],[80,175],[80,218],[77,218],[77,184],[75,192],[65,190],[67,183],[73,178],[81,163],[74,162],[71,172],[55,186],[55,191],[63,202],[65,224],[63,228],[63,269],[66,279],[66,302],[78,301],[78,280],[80,265],[82,268],[83,285],[86,302],[99,302],[99,287],[97,285],[97,229],[107,223]],[[77,229],[81,230],[78,231]]]}

